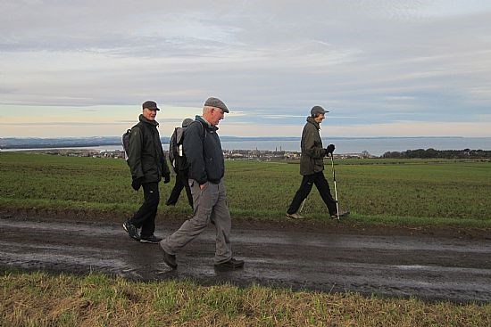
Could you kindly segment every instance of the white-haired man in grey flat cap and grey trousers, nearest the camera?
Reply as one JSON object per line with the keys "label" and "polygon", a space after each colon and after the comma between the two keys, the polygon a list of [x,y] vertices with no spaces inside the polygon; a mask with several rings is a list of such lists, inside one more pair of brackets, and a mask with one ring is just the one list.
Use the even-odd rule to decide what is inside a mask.
{"label": "white-haired man in grey flat cap and grey trousers, nearest the camera", "polygon": [[203,116],[187,127],[184,153],[189,164],[189,186],[193,194],[194,216],[184,222],[178,231],[160,242],[163,261],[176,269],[176,253],[204,231],[210,222],[216,231],[214,266],[236,269],[244,261],[232,258],[230,245],[230,213],[227,192],[223,183],[225,173],[221,142],[217,125],[229,109],[217,98],[204,102]]}

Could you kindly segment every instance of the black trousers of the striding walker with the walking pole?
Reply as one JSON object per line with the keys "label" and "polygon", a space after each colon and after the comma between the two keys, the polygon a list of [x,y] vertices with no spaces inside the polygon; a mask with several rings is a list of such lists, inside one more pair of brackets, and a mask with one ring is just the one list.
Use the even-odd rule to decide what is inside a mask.
{"label": "black trousers of the striding walker with the walking pole", "polygon": [[324,176],[323,172],[315,173],[312,175],[307,175],[302,178],[302,184],[300,184],[300,188],[295,193],[295,197],[290,204],[290,208],[288,208],[287,213],[289,215],[294,214],[300,206],[302,205],[302,201],[307,198],[309,193],[312,191],[312,186],[315,184],[317,190],[320,193],[320,197],[328,206],[329,215],[334,215],[337,213],[336,208],[336,200],[332,198],[330,193],[328,180]]}

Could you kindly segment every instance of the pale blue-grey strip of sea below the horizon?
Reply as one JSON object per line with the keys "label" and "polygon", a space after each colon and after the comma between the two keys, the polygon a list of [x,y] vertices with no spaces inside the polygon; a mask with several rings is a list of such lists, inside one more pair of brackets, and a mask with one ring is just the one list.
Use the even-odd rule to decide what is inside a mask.
{"label": "pale blue-grey strip of sea below the horizon", "polygon": [[[322,140],[327,146],[329,143],[336,145],[337,154],[369,152],[374,156],[381,156],[387,151],[407,151],[417,149],[435,150],[487,150],[491,151],[491,137],[368,137],[368,138],[329,138]],[[168,143],[162,143],[165,150]],[[261,151],[300,151],[300,139],[298,140],[237,140],[222,141],[223,150],[261,150]],[[70,148],[44,148],[44,149],[4,149],[2,151],[32,151],[50,149],[78,149],[96,151],[122,151],[119,144],[100,145],[88,147]]]}

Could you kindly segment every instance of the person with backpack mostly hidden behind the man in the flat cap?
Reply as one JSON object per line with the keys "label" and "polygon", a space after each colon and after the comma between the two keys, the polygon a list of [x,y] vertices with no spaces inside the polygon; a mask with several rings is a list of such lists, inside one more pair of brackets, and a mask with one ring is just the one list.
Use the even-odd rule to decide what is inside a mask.
{"label": "person with backpack mostly hidden behind the man in the flat cap", "polygon": [[176,173],[176,184],[174,184],[174,187],[172,188],[169,199],[165,202],[168,206],[175,206],[176,203],[178,203],[180,192],[184,188],[186,190],[187,202],[189,203],[189,206],[193,208],[193,194],[191,194],[191,188],[187,183],[189,164],[187,163],[186,156],[182,149],[184,132],[193,121],[193,119],[184,119],[182,121],[182,127],[176,127],[171,136],[171,142],[169,143],[169,161],[171,161],[171,166]]}

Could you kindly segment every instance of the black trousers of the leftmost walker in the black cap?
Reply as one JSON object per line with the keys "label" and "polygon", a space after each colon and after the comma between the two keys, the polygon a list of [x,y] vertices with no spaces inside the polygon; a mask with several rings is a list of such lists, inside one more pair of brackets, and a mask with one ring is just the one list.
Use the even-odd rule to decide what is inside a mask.
{"label": "black trousers of the leftmost walker in the black cap", "polygon": [[129,223],[142,229],[142,237],[153,235],[155,232],[155,216],[159,206],[160,194],[159,184],[146,183],[142,184],[144,202],[137,212],[129,219]]}

